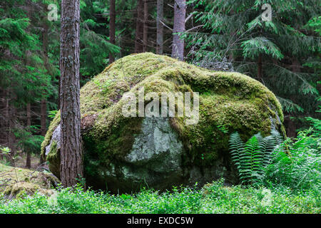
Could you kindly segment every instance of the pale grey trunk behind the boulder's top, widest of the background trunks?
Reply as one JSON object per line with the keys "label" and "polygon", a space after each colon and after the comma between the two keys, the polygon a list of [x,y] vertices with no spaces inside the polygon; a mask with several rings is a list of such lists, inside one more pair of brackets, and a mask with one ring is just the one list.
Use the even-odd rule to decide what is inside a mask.
{"label": "pale grey trunk behind the boulder's top, widest of the background trunks", "polygon": [[184,59],[184,40],[180,39],[180,33],[185,31],[186,1],[175,0],[174,4],[174,28],[172,57],[183,61]]}

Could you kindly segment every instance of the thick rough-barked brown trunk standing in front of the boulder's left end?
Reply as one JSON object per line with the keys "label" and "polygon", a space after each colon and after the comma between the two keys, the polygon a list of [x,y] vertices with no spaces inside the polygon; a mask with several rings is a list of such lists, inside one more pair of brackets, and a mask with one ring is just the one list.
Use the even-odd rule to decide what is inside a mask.
{"label": "thick rough-barked brown trunk standing in front of the boulder's left end", "polygon": [[79,0],[61,1],[60,108],[61,167],[63,187],[83,177],[79,81]]}

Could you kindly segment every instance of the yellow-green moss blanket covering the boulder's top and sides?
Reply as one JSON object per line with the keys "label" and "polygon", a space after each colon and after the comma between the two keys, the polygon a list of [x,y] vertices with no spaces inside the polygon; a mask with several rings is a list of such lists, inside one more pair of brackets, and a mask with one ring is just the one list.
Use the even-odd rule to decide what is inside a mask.
{"label": "yellow-green moss blanket covering the boulder's top and sides", "polygon": [[[168,56],[133,54],[118,59],[81,88],[86,175],[99,179],[99,167],[115,169],[114,165],[123,162],[131,151],[143,118],[123,116],[122,107],[126,103],[123,93],[131,91],[138,95],[141,87],[145,94],[199,93],[196,125],[185,125],[185,117],[170,118],[170,125],[185,148],[182,164],[185,167],[208,167],[220,157],[226,157],[228,136],[234,131],[243,139],[258,132],[267,135],[271,128],[284,134],[280,103],[253,78],[235,72],[210,71]],[[43,155],[59,121],[60,113],[57,113],[41,145]],[[53,147],[47,160],[57,165],[56,152]]]}

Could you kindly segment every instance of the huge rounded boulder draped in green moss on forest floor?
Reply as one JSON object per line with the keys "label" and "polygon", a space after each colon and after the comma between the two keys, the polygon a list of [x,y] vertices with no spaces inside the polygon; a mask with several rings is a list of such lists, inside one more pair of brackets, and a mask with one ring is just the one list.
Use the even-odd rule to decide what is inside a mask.
{"label": "huge rounded boulder draped in green moss on forest floor", "polygon": [[[144,88],[163,92],[198,92],[198,123],[187,117],[126,117],[126,92]],[[180,105],[175,100],[175,107]],[[148,103],[148,101],[146,101]],[[272,128],[284,134],[275,95],[253,78],[235,72],[209,71],[167,56],[140,53],[108,66],[81,88],[81,130],[87,185],[111,192],[131,192],[146,185],[235,180],[228,138],[244,140]],[[59,177],[60,113],[52,121],[41,152]]]}

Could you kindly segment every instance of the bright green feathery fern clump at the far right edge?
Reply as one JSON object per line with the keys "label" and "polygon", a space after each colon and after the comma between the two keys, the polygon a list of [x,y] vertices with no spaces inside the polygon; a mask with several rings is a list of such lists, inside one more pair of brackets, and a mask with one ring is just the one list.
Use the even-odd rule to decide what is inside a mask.
{"label": "bright green feathery fern clump at the far right edge", "polygon": [[310,128],[298,133],[297,138],[287,138],[272,152],[266,167],[266,181],[285,185],[295,190],[321,189],[321,138]]}

